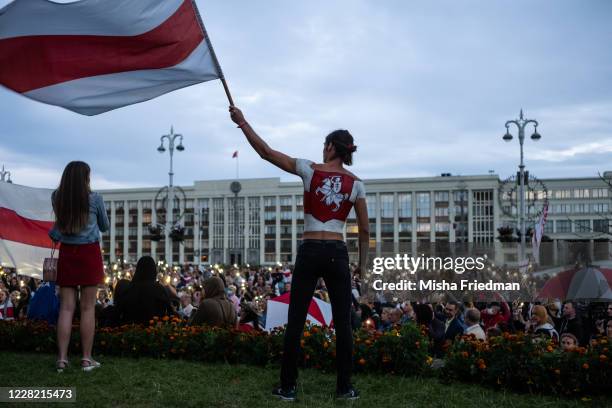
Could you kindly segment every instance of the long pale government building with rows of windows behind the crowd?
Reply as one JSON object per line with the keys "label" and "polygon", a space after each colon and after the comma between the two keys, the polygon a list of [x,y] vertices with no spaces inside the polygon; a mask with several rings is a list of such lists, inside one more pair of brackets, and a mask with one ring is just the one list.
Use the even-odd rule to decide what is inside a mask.
{"label": "long pale government building with rows of windows behind the crowd", "polygon": [[[604,177],[612,177],[612,172]],[[166,204],[156,200],[159,188],[100,191],[111,221],[110,231],[103,234],[105,261],[134,263],[142,255],[172,264],[295,261],[304,228],[301,181],[241,179],[238,195],[230,191],[232,181],[195,181],[192,186],[181,186],[184,196],[179,194],[174,220],[180,217],[185,233],[182,242],[172,242],[172,262],[166,255],[170,248],[165,247],[165,239],[154,242],[149,231],[149,225],[165,223]],[[543,264],[572,261],[568,257],[575,248],[585,248],[591,259],[609,259],[612,189],[604,180],[559,178],[529,184],[533,190],[527,198],[537,199],[529,206],[530,212],[541,209],[544,195],[549,200],[545,234],[552,242],[543,243]],[[496,239],[498,228],[517,224],[516,208],[508,200],[499,200],[500,195],[508,197],[515,180],[504,182],[495,174],[446,173],[369,179],[365,186],[372,255],[494,248],[497,262],[516,263],[516,244],[501,244]],[[354,212],[345,236],[351,258],[356,260]],[[527,248],[531,248],[529,241]]]}

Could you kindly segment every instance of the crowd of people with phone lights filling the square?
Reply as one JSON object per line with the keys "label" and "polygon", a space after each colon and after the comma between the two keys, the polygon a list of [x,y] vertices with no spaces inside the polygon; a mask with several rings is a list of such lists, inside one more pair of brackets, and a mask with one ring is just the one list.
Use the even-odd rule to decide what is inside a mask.
{"label": "crowd of people with phone lights filling the square", "polygon": [[[145,256],[135,268],[126,266],[114,279],[106,279],[98,291],[96,320],[99,326],[117,326],[148,324],[154,316],[175,315],[190,324],[263,330],[267,301],[291,291],[291,276],[289,265],[166,268]],[[442,356],[445,345],[462,335],[484,341],[504,332],[524,332],[551,338],[564,350],[588,346],[598,336],[612,340],[612,303],[519,303],[506,302],[501,297],[493,302],[389,303],[365,299],[361,285],[359,276],[354,274],[353,329],[385,332],[403,324],[424,325],[435,356]],[[49,290],[38,279],[3,272],[0,319],[36,318],[36,313],[28,309],[43,288]],[[329,301],[322,279],[314,296]],[[49,296],[44,299],[48,304]],[[40,311],[41,307],[36,305],[34,309]]]}

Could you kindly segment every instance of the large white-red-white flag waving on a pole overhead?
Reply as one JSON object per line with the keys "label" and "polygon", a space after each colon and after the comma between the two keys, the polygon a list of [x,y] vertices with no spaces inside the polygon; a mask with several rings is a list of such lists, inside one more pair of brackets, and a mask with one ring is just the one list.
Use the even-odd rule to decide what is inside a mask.
{"label": "large white-red-white flag waving on a pole overhead", "polygon": [[218,78],[194,0],[14,0],[0,10],[0,84],[40,102],[97,115]]}

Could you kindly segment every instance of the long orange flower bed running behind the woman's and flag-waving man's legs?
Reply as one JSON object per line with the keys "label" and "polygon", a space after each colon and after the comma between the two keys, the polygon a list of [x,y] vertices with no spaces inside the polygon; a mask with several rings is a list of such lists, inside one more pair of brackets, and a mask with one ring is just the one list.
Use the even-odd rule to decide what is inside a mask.
{"label": "long orange flower bed running behind the woman's and flag-waving man's legs", "polygon": [[[431,359],[427,337],[415,325],[385,334],[354,333],[355,370],[421,373]],[[71,350],[80,347],[78,326],[73,327]],[[283,330],[272,333],[239,332],[207,326],[187,326],[177,318],[163,317],[149,326],[124,325],[99,328],[97,355],[182,358],[203,362],[229,362],[265,366],[280,361]],[[0,321],[0,350],[56,352],[55,329],[45,322]],[[301,340],[301,364],[324,371],[335,368],[335,336],[329,328],[307,325]]]}

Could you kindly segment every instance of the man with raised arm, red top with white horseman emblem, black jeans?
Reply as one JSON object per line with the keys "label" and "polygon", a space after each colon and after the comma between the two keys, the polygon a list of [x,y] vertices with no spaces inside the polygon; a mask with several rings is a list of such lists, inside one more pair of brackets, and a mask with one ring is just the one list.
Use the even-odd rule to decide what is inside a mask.
{"label": "man with raised arm, red top with white horseman emblem, black jeans", "polygon": [[353,337],[351,331],[351,272],[343,229],[351,209],[359,228],[359,265],[365,269],[369,247],[368,210],[363,182],[344,168],[353,162],[357,150],[347,130],[336,130],[323,143],[323,163],[296,159],[276,151],[257,135],[240,109],[230,107],[231,119],[259,156],[291,174],[304,184],[304,234],[291,280],[288,324],[285,331],[280,386],[273,395],[287,401],[296,399],[297,359],[300,336],[317,281],[322,277],[329,292],[336,331],[338,399],[359,398],[351,384]]}

